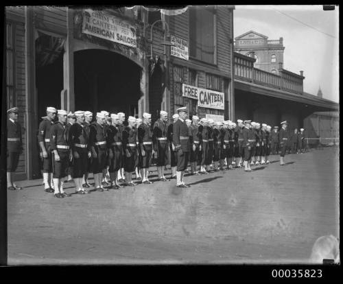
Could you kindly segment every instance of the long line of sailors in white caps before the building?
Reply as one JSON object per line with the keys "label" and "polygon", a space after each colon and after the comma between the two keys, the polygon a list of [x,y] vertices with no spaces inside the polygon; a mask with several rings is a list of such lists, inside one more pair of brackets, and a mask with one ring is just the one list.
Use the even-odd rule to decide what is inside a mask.
{"label": "long line of sailors in white caps before the building", "polygon": [[[17,117],[18,109],[15,110]],[[193,115],[191,121],[187,119],[186,107],[178,108],[169,125],[167,115],[161,110],[160,118],[153,126],[149,113],[144,113],[143,119],[128,117],[128,126],[124,126],[124,113],[110,115],[103,110],[93,121],[93,113],[89,111],[67,115],[65,110],[48,107],[47,116],[43,117],[38,130],[45,191],[54,192],[57,198],[70,196],[63,190],[63,179],[71,176],[77,193],[89,193],[86,188],[90,187],[90,172],[97,191],[104,191],[104,183],[110,185],[107,190],[119,189],[119,182],[127,186],[137,185],[132,181],[134,172],[142,183],[150,184],[148,175],[153,156],[156,158],[158,180],[168,180],[165,167],[169,164],[171,178],[176,178],[178,187],[189,187],[183,178],[189,163],[194,175],[243,165],[245,171],[251,171],[250,165],[254,162],[256,165],[269,163],[270,150],[276,145],[280,145],[281,165],[285,165],[283,157],[289,139],[287,121],[281,123],[279,132],[276,131],[277,126],[271,132],[271,127],[265,123],[260,126],[250,120],[238,119],[236,124],[199,119]],[[13,116],[15,118],[15,112]],[[21,141],[21,134],[17,134]],[[11,171],[15,170],[13,164],[15,161],[8,161]],[[12,181],[10,183],[8,187],[16,189]]]}

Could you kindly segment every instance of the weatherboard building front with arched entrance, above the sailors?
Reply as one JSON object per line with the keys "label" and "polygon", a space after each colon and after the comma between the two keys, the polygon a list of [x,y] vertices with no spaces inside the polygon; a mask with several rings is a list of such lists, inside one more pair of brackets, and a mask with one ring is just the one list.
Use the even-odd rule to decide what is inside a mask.
{"label": "weatherboard building front with arched entrance, above the sailors", "polygon": [[40,177],[47,106],[141,117],[233,118],[233,6],[167,10],[6,7],[8,108],[23,110],[17,179]]}

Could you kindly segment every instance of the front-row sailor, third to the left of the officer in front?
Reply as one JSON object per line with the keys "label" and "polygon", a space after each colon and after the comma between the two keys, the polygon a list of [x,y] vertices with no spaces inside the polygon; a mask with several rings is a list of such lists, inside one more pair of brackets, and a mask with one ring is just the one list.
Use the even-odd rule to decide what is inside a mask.
{"label": "front-row sailor, third to the left of the officer in front", "polygon": [[134,117],[128,117],[128,126],[123,130],[123,150],[124,150],[124,170],[126,175],[126,185],[134,187],[137,185],[132,182],[132,171],[136,167],[136,155],[137,155],[137,130],[134,128],[136,119]]}

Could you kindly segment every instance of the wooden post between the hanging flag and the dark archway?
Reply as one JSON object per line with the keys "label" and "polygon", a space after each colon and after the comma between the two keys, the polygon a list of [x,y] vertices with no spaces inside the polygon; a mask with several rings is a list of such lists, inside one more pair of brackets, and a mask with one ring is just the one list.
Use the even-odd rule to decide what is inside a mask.
{"label": "wooden post between the hanging flag and the dark archway", "polygon": [[61,108],[75,110],[74,93],[74,53],[73,53],[73,10],[67,8],[67,40],[63,56],[63,86],[61,92]]}

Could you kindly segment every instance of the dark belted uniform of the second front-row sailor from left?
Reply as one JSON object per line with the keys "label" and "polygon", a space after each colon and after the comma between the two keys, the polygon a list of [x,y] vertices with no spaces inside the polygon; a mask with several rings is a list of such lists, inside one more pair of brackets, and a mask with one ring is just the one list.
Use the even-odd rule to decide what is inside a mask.
{"label": "dark belted uniform of the second front-row sailor from left", "polygon": [[[73,150],[73,171],[72,178],[82,178],[88,169],[88,151],[91,145],[88,144],[88,135],[83,125],[75,122],[70,130],[71,150]],[[79,158],[75,157],[75,153]]]}

